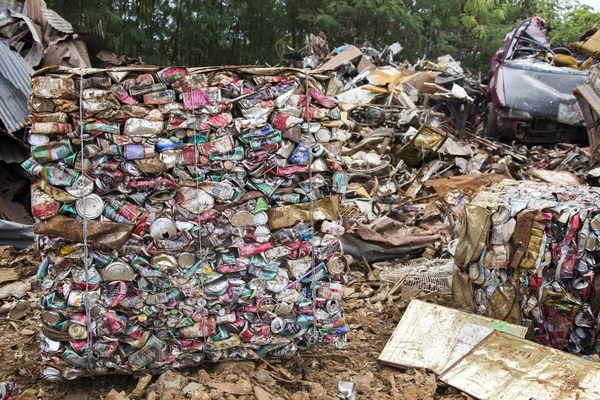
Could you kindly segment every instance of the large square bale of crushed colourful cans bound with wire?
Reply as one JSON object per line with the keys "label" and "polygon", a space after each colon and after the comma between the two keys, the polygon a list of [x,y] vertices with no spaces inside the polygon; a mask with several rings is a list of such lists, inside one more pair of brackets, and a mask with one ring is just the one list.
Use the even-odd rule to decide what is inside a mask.
{"label": "large square bale of crushed colourful cans bound with wire", "polygon": [[333,98],[300,70],[34,74],[49,379],[344,346]]}

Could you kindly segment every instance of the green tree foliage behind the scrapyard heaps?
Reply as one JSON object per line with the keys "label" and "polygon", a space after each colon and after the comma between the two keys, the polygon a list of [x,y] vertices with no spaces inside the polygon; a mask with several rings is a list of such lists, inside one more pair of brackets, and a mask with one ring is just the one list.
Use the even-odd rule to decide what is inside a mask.
{"label": "green tree foliage behind the scrapyard heaps", "polygon": [[102,21],[116,53],[160,65],[276,64],[308,33],[330,45],[400,42],[398,60],[451,54],[486,72],[521,20],[540,15],[554,42],[575,41],[600,14],[577,0],[48,0],[76,29]]}

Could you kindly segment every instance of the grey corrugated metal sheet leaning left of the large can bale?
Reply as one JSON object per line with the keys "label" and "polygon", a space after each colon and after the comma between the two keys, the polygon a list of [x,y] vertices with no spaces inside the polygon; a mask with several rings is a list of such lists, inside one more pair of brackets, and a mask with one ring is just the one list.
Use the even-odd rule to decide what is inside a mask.
{"label": "grey corrugated metal sheet leaning left of the large can bale", "polygon": [[27,96],[33,69],[10,48],[0,43],[0,120],[9,132],[27,125]]}

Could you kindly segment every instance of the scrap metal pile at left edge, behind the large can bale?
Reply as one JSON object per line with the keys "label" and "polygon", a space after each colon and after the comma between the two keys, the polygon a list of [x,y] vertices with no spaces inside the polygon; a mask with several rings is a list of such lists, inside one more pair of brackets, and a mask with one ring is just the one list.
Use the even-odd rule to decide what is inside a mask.
{"label": "scrap metal pile at left edge, behind the large can bale", "polygon": [[32,243],[30,181],[19,166],[31,145],[26,137],[30,74],[48,65],[86,68],[122,61],[105,42],[101,23],[76,32],[43,0],[0,2],[0,243],[19,248]]}

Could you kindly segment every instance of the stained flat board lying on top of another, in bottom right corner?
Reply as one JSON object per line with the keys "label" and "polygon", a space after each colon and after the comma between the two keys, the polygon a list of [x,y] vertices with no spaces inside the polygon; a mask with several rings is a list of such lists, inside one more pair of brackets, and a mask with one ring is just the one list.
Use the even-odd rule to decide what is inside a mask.
{"label": "stained flat board lying on top of another, in bottom right corner", "polygon": [[440,379],[481,400],[600,399],[600,364],[492,332]]}

